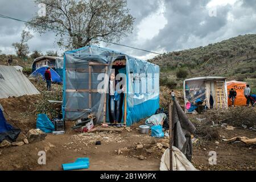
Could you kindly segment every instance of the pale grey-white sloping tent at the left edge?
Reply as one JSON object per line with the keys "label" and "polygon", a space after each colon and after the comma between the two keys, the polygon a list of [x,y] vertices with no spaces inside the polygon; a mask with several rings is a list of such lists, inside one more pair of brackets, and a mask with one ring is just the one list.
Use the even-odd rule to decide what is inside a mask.
{"label": "pale grey-white sloping tent at the left edge", "polygon": [[15,67],[0,65],[0,98],[39,94],[38,90]]}

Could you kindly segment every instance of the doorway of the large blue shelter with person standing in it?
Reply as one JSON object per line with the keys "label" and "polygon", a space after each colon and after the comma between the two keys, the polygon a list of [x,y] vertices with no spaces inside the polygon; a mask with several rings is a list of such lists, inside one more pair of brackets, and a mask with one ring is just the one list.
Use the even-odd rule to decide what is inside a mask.
{"label": "doorway of the large blue shelter with person standing in it", "polygon": [[109,125],[126,125],[126,83],[120,74],[126,75],[126,60],[115,60],[110,72],[106,96],[106,123]]}

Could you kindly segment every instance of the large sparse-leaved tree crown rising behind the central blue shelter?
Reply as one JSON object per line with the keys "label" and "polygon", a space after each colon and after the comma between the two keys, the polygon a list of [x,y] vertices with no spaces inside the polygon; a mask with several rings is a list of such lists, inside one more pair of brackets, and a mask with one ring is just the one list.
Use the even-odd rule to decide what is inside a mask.
{"label": "large sparse-leaved tree crown rising behind the central blue shelter", "polygon": [[[56,33],[63,48],[80,48],[96,39],[118,42],[133,31],[134,18],[126,0],[34,0],[46,5],[46,16],[27,24],[40,34]],[[58,38],[59,37],[59,38]]]}

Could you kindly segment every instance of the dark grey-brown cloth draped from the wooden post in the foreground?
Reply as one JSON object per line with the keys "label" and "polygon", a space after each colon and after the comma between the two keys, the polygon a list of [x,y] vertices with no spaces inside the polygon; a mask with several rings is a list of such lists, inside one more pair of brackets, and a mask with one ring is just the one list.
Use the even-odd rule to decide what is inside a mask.
{"label": "dark grey-brown cloth draped from the wooden post in the foreground", "polygon": [[189,161],[191,161],[193,155],[191,134],[195,130],[195,126],[189,121],[187,115],[180,107],[179,102],[175,100],[174,106],[172,107],[173,146],[179,148]]}

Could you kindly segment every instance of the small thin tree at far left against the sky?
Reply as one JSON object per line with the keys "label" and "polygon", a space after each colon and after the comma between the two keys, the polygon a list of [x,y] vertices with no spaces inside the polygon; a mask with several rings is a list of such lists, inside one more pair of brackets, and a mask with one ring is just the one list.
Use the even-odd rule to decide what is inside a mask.
{"label": "small thin tree at far left against the sky", "polygon": [[20,42],[16,42],[16,43],[13,43],[13,47],[16,49],[16,54],[19,56],[19,57],[24,57],[24,56],[27,56],[27,54],[29,53],[28,49],[28,40],[32,39],[33,36],[30,34],[29,31],[25,31],[23,30],[22,31],[22,39],[20,40]]}

